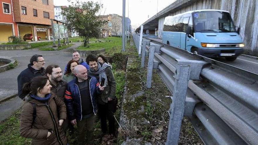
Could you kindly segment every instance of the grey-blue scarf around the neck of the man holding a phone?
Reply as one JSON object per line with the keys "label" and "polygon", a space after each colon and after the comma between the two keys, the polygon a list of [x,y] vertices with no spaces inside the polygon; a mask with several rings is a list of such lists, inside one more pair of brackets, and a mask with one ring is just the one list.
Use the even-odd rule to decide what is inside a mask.
{"label": "grey-blue scarf around the neck of the man holding a phone", "polygon": [[110,65],[108,65],[106,62],[103,63],[103,65],[101,66],[99,62],[98,63],[98,68],[96,69],[96,71],[92,70],[91,68],[89,69],[89,72],[91,74],[99,74],[99,83],[101,83],[101,79],[102,78],[105,78],[105,83],[104,83],[104,86],[106,87],[108,85],[108,79],[107,79],[107,75],[106,75],[106,68],[107,67],[110,67]]}

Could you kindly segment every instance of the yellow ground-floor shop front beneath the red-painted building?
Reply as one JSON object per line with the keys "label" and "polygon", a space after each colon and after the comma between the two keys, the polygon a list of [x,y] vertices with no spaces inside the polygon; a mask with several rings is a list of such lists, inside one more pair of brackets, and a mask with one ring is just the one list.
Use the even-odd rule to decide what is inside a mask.
{"label": "yellow ground-floor shop front beneath the red-painted building", "polygon": [[0,43],[8,42],[8,37],[13,35],[13,25],[0,23],[0,34]]}

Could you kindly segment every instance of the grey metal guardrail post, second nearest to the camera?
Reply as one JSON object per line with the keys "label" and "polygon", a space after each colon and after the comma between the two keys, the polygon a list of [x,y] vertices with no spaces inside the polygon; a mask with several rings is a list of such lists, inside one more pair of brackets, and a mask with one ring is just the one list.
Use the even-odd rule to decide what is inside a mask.
{"label": "grey metal guardrail post, second nearest to the camera", "polygon": [[[139,51],[140,51],[140,50],[139,50]],[[154,61],[154,52],[155,52],[155,45],[150,45],[146,88],[151,88],[151,79],[152,79],[152,69],[153,69],[153,61]]]}

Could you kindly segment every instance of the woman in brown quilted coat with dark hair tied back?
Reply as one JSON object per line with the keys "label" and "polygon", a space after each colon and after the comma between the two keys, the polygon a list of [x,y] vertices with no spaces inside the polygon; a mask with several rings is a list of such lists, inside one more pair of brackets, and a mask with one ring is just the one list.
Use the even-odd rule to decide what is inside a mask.
{"label": "woman in brown quilted coat with dark hair tied back", "polygon": [[50,93],[52,86],[46,76],[33,78],[24,84],[29,99],[21,111],[21,136],[32,138],[33,145],[67,145],[62,129],[66,107],[60,98]]}

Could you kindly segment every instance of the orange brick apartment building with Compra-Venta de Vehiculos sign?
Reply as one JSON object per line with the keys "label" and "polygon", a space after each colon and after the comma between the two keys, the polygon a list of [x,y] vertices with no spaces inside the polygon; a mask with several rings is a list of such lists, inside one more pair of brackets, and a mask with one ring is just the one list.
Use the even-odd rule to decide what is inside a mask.
{"label": "orange brick apartment building with Compra-Venta de Vehiculos sign", "polygon": [[53,0],[13,0],[13,13],[20,37],[30,35],[27,41],[50,40]]}

